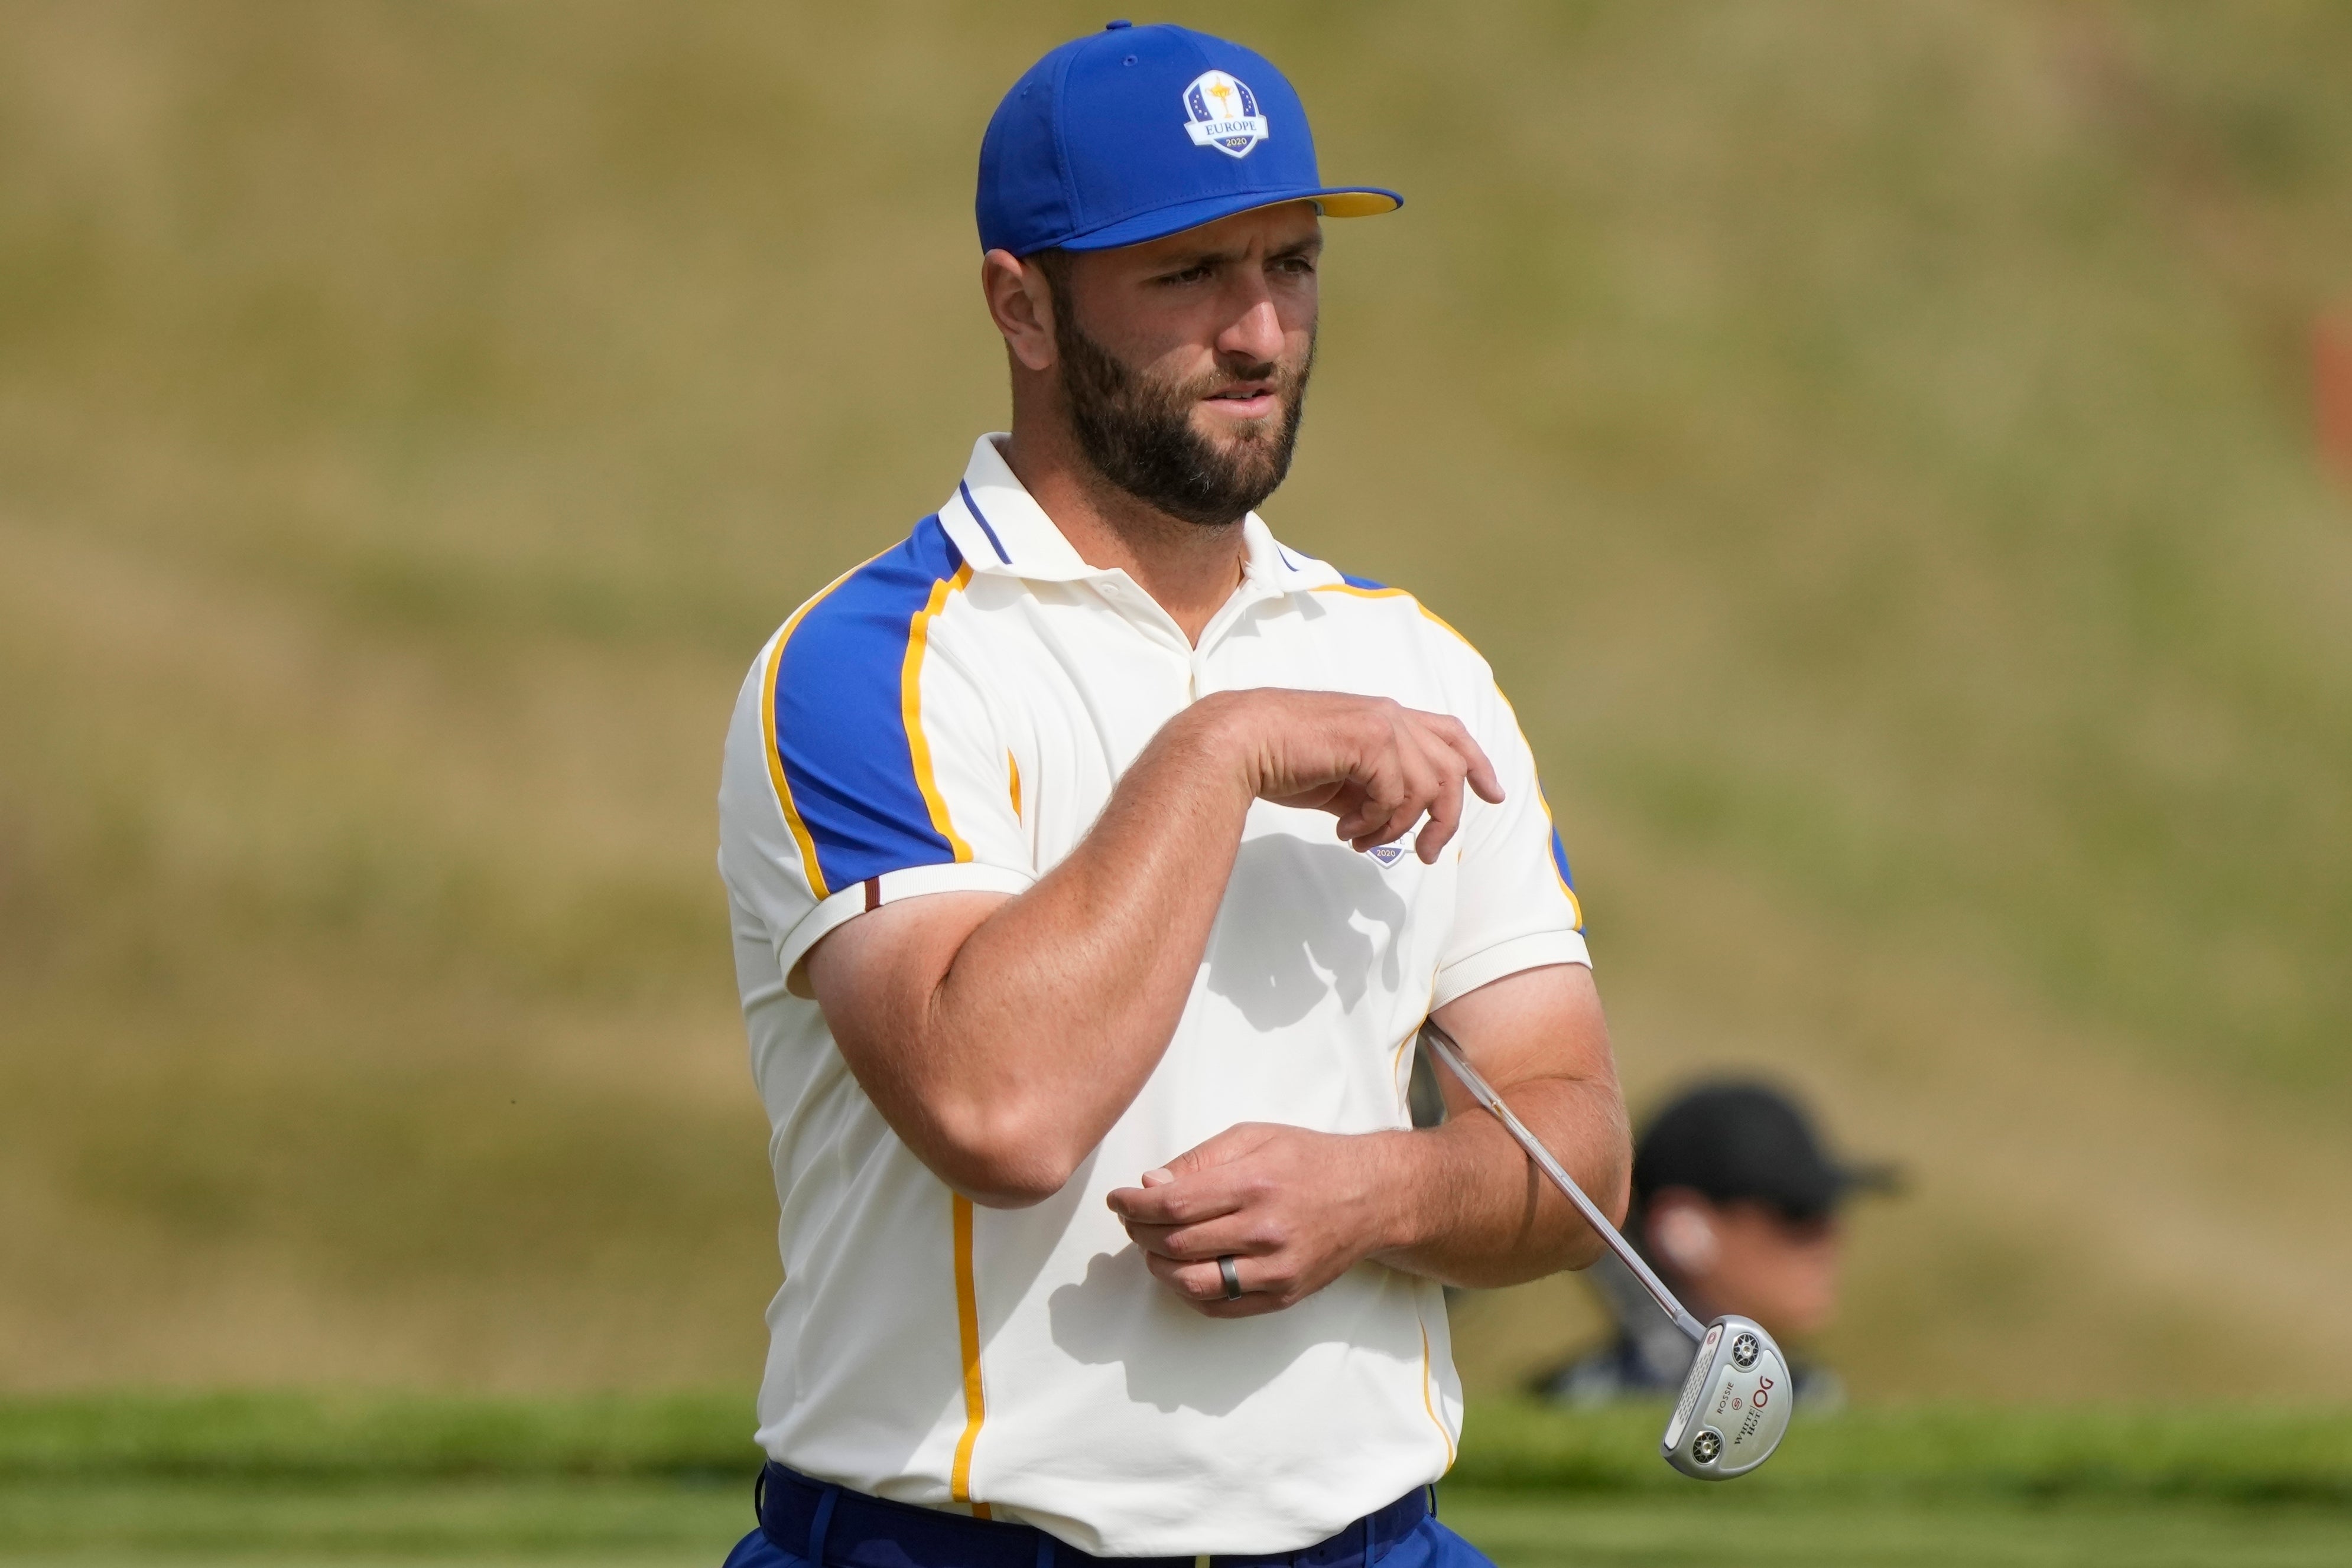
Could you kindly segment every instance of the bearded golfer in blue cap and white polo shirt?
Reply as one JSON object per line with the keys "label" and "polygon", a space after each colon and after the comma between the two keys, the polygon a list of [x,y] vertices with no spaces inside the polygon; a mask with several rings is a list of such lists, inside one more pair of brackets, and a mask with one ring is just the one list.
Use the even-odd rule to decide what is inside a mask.
{"label": "bearded golfer in blue cap and white polo shirt", "polygon": [[1174,26],[1054,49],[988,125],[1011,433],[793,611],[727,736],[783,1248],[731,1563],[1484,1561],[1428,1502],[1444,1284],[1597,1241],[1489,1117],[1411,1126],[1416,1025],[1616,1213],[1628,1138],[1494,675],[1254,510],[1322,219],[1397,205]]}

